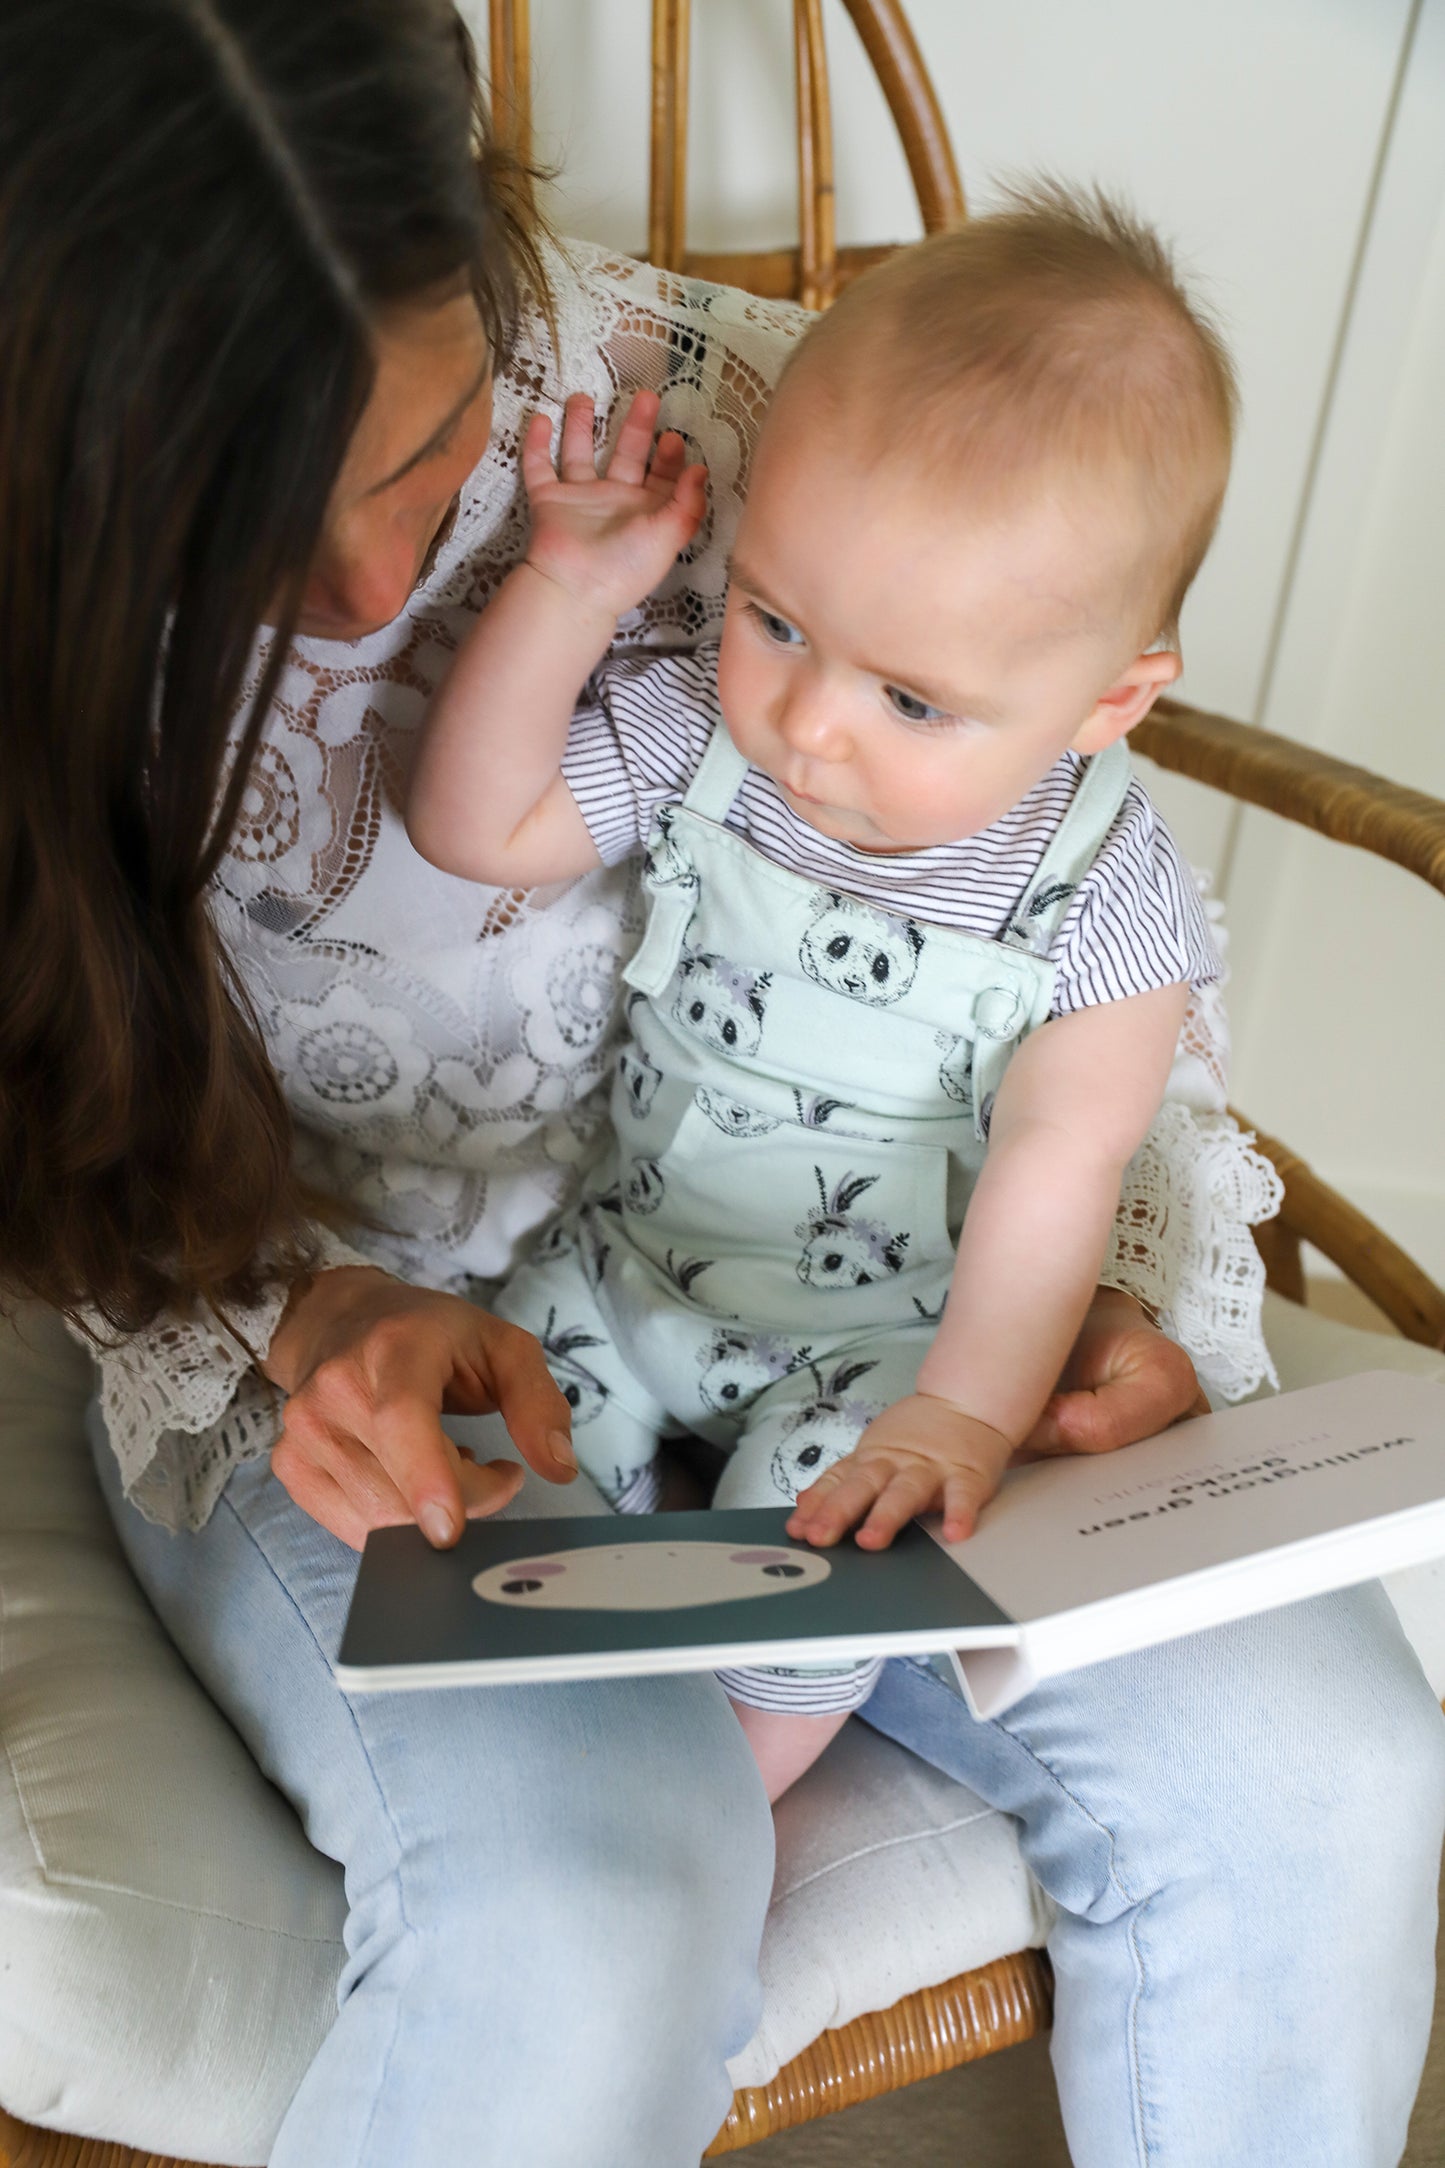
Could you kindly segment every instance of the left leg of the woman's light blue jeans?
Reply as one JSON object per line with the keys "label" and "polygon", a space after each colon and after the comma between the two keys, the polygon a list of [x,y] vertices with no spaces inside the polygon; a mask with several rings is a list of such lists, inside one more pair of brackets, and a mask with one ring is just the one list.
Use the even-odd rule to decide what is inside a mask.
{"label": "left leg of the woman's light blue jeans", "polygon": [[355,1552],[266,1461],[195,1535],[97,1468],[167,1630],[347,1873],[338,2018],[271,2168],[695,2168],[758,2021],[773,1858],[721,1687],[347,1698]]}

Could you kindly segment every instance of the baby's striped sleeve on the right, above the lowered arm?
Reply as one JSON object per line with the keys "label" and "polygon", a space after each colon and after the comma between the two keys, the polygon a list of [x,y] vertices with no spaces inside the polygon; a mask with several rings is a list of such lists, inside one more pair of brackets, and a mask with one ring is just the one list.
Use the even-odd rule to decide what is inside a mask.
{"label": "baby's striped sleeve on the right, above the lowered arm", "polygon": [[1053,965],[1055,1017],[1222,973],[1194,874],[1140,783],[1079,882]]}

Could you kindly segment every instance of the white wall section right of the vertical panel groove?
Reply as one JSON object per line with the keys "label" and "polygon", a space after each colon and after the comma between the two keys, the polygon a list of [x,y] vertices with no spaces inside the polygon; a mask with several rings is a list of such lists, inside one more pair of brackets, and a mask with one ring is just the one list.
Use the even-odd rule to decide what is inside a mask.
{"label": "white wall section right of the vertical panel groove", "polygon": [[[1445,4],[1421,9],[1261,722],[1445,798]],[[1445,902],[1239,824],[1235,1093],[1445,1283]],[[1267,1112],[1265,1112],[1267,1106]]]}

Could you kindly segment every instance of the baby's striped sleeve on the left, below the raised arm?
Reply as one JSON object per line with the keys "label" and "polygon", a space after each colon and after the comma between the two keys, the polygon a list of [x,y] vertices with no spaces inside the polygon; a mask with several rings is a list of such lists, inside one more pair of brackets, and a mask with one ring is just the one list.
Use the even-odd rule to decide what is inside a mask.
{"label": "baby's striped sleeve on the left, below the raised arm", "polygon": [[691,783],[717,715],[695,655],[609,655],[572,715],[561,774],[604,865],[648,841],[652,815]]}

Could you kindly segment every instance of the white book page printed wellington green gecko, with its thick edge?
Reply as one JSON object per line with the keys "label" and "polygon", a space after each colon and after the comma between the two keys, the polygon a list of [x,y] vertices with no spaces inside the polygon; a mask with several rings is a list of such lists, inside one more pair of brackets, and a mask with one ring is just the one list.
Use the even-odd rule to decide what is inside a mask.
{"label": "white book page printed wellington green gecko, with its thick edge", "polygon": [[1445,1388],[1371,1370],[1018,1468],[940,1548],[1023,1628],[962,1665],[992,1715],[1053,1672],[1445,1552]]}

